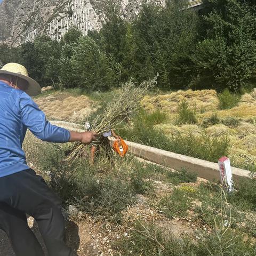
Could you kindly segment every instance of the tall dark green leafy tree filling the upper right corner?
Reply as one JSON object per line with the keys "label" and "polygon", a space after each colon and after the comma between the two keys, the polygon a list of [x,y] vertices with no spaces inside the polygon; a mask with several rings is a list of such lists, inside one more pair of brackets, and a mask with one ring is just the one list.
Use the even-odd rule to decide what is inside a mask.
{"label": "tall dark green leafy tree filling the upper right corner", "polygon": [[246,1],[204,0],[205,32],[192,59],[194,87],[238,91],[256,68],[256,16]]}

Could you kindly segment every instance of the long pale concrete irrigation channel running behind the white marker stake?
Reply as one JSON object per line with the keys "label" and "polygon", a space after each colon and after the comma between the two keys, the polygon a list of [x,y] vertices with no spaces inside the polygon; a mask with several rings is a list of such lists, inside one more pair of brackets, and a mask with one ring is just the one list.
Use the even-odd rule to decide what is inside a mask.
{"label": "long pale concrete irrigation channel running behind the white marker stake", "polygon": [[[79,125],[74,123],[68,123],[63,121],[51,121],[51,123],[71,131],[84,131],[82,129],[79,129]],[[110,143],[113,143],[115,139],[110,137],[109,140]],[[162,149],[141,145],[135,142],[125,142],[129,146],[130,154],[145,159],[146,161],[170,167],[171,169],[174,170],[186,168],[188,171],[196,172],[198,177],[204,178],[206,180],[220,180],[219,165],[217,163],[212,163],[194,157],[175,154],[170,151],[165,151]],[[250,171],[246,171],[236,167],[231,167],[231,171],[233,173],[233,179],[235,184],[239,184],[239,181],[243,179],[250,178]]]}

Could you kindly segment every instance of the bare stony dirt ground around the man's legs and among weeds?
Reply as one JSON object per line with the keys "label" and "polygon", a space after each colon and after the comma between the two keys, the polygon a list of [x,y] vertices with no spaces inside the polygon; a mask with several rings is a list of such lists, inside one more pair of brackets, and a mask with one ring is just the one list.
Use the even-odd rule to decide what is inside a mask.
{"label": "bare stony dirt ground around the man's legs and among weeds", "polygon": [[[141,196],[139,196],[141,197]],[[113,226],[107,221],[95,220],[92,217],[83,217],[81,220],[66,222],[66,242],[77,256],[112,256],[114,249],[111,243],[117,239],[127,236],[130,231],[129,223],[135,220],[149,221],[154,218],[155,224],[164,230],[166,235],[182,237],[192,235],[195,227],[189,220],[185,219],[166,219],[157,211],[148,207],[143,198],[138,198],[138,204],[127,210],[127,226]],[[42,245],[45,256],[47,252],[39,233],[36,222],[33,218],[28,218],[28,225],[34,231],[39,243]],[[9,239],[0,230],[0,256],[15,256]]]}

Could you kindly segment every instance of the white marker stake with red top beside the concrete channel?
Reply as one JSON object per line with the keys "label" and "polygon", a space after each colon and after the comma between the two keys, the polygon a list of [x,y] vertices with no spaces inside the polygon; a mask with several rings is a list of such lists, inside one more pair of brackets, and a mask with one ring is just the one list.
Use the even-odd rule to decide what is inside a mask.
{"label": "white marker stake with red top beside the concrete channel", "polygon": [[218,163],[219,163],[221,183],[224,185],[227,185],[228,191],[231,192],[234,190],[234,184],[233,184],[233,176],[231,172],[230,160],[228,157],[223,156],[219,159]]}

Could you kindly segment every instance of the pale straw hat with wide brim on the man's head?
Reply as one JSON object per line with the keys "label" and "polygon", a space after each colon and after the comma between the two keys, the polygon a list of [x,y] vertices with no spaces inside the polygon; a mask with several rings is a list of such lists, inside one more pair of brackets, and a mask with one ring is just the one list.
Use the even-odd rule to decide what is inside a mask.
{"label": "pale straw hat with wide brim on the man's head", "polygon": [[28,70],[18,63],[7,63],[0,69],[0,75],[7,74],[18,76],[28,82],[28,89],[25,92],[29,96],[35,96],[41,93],[41,86],[32,78],[28,76]]}

